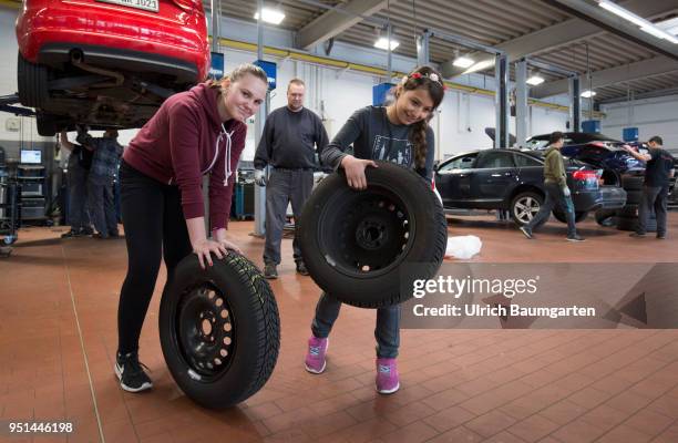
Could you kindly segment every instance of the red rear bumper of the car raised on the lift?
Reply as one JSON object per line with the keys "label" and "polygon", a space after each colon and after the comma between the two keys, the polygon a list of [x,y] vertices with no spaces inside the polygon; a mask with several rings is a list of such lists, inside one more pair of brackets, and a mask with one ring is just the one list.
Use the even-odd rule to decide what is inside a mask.
{"label": "red rear bumper of the car raised on the lift", "polygon": [[150,12],[94,0],[30,0],[17,19],[19,51],[30,62],[59,66],[72,50],[90,64],[174,74],[199,82],[209,69],[205,14],[186,1],[158,1]]}

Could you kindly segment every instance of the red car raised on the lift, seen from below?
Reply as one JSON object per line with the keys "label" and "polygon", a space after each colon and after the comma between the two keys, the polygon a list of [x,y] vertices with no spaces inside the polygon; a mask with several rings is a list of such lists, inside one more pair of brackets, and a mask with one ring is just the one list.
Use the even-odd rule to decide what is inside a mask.
{"label": "red car raised on the lift, seen from below", "polygon": [[24,0],[17,40],[19,100],[40,135],[141,127],[209,70],[201,0]]}

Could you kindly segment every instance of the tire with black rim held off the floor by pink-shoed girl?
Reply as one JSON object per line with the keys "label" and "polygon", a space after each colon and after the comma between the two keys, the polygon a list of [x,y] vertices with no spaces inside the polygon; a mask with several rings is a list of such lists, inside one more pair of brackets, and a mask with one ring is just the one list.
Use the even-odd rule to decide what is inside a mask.
{"label": "tire with black rim held off the floor by pink-shoed girl", "polygon": [[343,169],[325,178],[298,222],[304,261],[316,284],[348,305],[379,308],[412,297],[401,291],[401,266],[421,264],[432,278],[445,253],[448,224],[431,184],[414,171],[377,162],[366,190],[351,189]]}

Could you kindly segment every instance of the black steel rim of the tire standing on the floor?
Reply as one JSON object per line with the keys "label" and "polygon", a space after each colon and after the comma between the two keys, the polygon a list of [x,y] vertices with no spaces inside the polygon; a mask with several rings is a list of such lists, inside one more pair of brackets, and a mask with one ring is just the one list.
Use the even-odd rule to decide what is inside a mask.
{"label": "black steel rim of the tire standing on the floor", "polygon": [[174,338],[188,375],[209,382],[228,371],[235,351],[235,318],[225,295],[210,282],[181,297]]}

